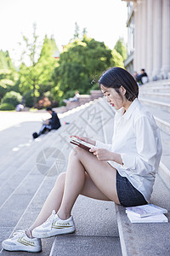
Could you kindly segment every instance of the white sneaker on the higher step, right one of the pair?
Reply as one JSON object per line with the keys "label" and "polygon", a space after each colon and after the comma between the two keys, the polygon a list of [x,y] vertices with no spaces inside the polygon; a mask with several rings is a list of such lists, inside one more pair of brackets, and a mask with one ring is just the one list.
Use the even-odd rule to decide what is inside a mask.
{"label": "white sneaker on the higher step, right one of the pair", "polygon": [[72,216],[65,220],[60,219],[53,210],[49,218],[40,226],[32,230],[32,236],[45,238],[62,234],[69,234],[75,231],[75,224]]}

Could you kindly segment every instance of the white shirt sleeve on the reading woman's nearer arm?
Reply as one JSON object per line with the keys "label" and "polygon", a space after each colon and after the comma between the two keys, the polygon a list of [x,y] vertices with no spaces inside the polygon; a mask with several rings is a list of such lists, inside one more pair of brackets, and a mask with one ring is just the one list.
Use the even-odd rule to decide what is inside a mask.
{"label": "white shirt sleeve on the reading woman's nearer arm", "polygon": [[[152,127],[151,120],[147,117],[141,117],[134,124],[134,134],[136,136],[137,154],[121,154],[122,163],[125,169],[139,170],[145,174],[149,169],[155,169],[157,154],[157,137]],[[153,168],[147,168],[150,166]]]}

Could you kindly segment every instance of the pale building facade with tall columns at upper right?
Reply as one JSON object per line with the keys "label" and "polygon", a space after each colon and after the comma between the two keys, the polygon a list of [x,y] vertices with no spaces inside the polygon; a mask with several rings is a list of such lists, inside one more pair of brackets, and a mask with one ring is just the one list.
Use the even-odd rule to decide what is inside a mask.
{"label": "pale building facade with tall columns at upper right", "polygon": [[170,78],[170,0],[126,2],[125,67],[130,73],[144,68],[150,80]]}

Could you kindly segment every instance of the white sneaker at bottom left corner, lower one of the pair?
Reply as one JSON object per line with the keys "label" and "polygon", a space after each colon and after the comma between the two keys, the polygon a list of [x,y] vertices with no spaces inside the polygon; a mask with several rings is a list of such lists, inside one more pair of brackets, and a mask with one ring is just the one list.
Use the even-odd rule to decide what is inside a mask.
{"label": "white sneaker at bottom left corner, lower one of the pair", "polygon": [[4,240],[2,242],[2,247],[7,251],[38,253],[42,250],[42,243],[40,239],[29,238],[26,236],[26,230],[19,230],[14,232],[12,238]]}

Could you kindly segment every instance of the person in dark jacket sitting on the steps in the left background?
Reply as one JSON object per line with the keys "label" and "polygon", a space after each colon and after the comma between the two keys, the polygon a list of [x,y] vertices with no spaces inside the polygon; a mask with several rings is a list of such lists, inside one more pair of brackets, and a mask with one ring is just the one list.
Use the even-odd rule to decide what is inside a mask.
{"label": "person in dark jacket sitting on the steps in the left background", "polygon": [[39,137],[41,134],[47,133],[51,130],[57,130],[61,126],[57,113],[50,107],[46,108],[47,112],[50,113],[51,118],[43,122],[41,130],[37,133],[32,134],[33,138]]}

